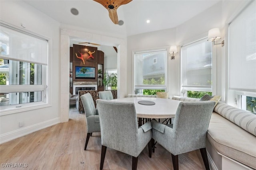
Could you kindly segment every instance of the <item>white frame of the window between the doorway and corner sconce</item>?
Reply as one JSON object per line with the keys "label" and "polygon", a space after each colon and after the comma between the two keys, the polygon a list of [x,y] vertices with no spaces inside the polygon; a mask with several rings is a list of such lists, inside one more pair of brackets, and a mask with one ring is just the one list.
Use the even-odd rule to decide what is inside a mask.
{"label": "white frame of the window between the doorway and corner sconce", "polygon": [[[164,46],[164,47],[156,47],[152,49],[144,49],[144,50],[136,50],[132,51],[132,92],[135,93],[135,90],[143,90],[143,89],[149,89],[149,90],[164,90],[167,91],[168,89],[168,63],[169,63],[169,57],[168,57],[168,49],[170,49],[170,46]],[[135,86],[135,54],[136,53],[143,53],[143,52],[150,52],[150,51],[166,51],[166,72],[165,72],[165,85],[152,85],[152,86]],[[155,64],[155,63],[153,63]]]}

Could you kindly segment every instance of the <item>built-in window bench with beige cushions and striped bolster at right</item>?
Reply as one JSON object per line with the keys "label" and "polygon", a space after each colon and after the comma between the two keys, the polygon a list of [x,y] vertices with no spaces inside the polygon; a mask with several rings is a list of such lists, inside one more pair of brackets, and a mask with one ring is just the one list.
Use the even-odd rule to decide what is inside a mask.
{"label": "built-in window bench with beige cushions and striped bolster at right", "polygon": [[[173,96],[172,99],[199,101],[199,99],[180,96]],[[256,169],[255,114],[223,102],[218,102],[210,119],[207,139],[210,145],[222,157],[220,159],[222,164],[218,162],[218,159],[214,160],[214,158],[211,158],[213,163],[216,164],[213,166],[216,169]],[[210,156],[214,157],[214,155]],[[228,158],[228,161],[226,158]]]}

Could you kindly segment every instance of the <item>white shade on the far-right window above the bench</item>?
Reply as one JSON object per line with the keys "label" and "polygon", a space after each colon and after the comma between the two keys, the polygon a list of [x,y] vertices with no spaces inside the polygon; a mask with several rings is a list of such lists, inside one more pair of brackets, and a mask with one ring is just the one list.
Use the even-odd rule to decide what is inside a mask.
{"label": "white shade on the far-right window above the bench", "polygon": [[256,92],[256,1],[228,27],[229,88]]}

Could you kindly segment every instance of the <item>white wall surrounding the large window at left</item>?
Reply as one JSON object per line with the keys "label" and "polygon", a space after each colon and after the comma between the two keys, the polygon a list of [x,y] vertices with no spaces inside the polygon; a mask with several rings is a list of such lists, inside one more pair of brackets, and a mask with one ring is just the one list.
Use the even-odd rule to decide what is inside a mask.
{"label": "white wall surrounding the large window at left", "polygon": [[[52,39],[49,60],[50,107],[0,116],[0,143],[60,122],[60,24],[22,1],[1,1],[0,20]],[[19,127],[23,121],[24,126]]]}

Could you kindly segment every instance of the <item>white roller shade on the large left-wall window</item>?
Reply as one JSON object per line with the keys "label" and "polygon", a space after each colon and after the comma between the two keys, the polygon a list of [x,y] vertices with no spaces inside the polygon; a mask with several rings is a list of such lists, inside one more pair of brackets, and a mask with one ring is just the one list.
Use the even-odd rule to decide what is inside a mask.
{"label": "white roller shade on the large left-wall window", "polygon": [[48,64],[48,41],[0,25],[1,58],[35,64]]}

